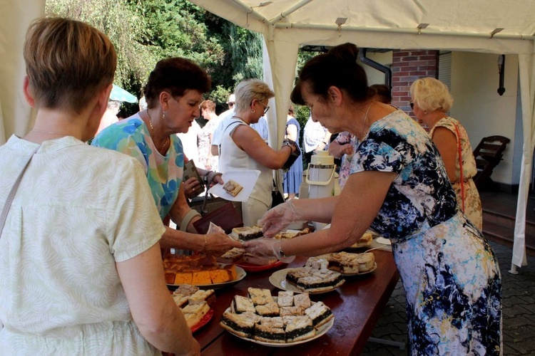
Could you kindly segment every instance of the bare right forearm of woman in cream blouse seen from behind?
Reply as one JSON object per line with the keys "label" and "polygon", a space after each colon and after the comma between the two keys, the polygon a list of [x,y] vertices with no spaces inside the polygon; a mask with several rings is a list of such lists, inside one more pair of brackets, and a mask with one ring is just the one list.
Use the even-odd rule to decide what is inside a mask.
{"label": "bare right forearm of woman in cream blouse seen from behind", "polygon": [[141,335],[158,350],[200,355],[199,343],[165,286],[160,245],[118,262],[116,267]]}

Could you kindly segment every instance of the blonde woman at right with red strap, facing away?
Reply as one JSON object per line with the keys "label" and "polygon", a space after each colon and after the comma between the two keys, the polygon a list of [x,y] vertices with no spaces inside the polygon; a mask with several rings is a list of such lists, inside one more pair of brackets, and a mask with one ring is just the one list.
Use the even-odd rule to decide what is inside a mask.
{"label": "blonde woman at right with red strap, facing away", "polygon": [[483,229],[481,199],[474,183],[476,159],[467,130],[459,120],[447,115],[453,105],[452,95],[447,86],[435,78],[415,80],[410,93],[412,112],[419,122],[429,127],[429,136],[442,156],[459,207],[475,226]]}

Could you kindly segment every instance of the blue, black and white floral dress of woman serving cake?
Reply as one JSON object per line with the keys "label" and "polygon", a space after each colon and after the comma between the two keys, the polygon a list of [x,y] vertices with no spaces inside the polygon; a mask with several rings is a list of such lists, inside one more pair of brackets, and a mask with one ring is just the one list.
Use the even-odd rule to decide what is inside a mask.
{"label": "blue, black and white floral dress of woman serving cake", "polygon": [[374,122],[351,162],[362,171],[397,173],[370,228],[392,242],[411,354],[500,355],[498,262],[459,211],[427,132],[401,111]]}

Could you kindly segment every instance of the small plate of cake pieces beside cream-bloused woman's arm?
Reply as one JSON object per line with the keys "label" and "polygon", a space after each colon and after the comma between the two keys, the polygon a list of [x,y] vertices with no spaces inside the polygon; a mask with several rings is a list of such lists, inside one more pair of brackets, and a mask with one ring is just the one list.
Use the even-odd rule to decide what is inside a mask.
{"label": "small plate of cake pieces beside cream-bloused woman's arm", "polygon": [[213,317],[211,308],[215,301],[213,289],[203,290],[190,284],[180,284],[173,292],[173,300],[182,310],[192,333],[208,324]]}

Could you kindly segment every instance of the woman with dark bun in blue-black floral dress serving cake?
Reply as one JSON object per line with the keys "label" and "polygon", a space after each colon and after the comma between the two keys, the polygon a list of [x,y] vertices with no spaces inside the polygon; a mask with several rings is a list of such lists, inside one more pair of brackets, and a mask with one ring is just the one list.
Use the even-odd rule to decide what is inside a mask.
{"label": "woman with dark bun in blue-black floral dress serving cake", "polygon": [[[248,252],[317,256],[354,244],[368,229],[392,242],[407,294],[412,355],[500,355],[501,277],[491,246],[459,211],[437,148],[404,112],[371,100],[351,43],[312,58],[292,92],[331,132],[360,144],[342,194],[288,201],[263,217],[265,236],[292,221],[332,227],[295,239],[260,239]],[[353,219],[348,218],[352,211]]]}

